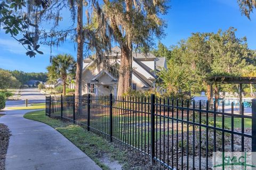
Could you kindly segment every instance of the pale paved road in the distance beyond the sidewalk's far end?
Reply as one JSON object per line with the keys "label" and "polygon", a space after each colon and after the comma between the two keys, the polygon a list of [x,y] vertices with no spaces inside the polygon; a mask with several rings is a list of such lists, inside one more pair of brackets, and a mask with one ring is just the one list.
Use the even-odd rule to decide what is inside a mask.
{"label": "pale paved road in the distance beyond the sidewalk's far end", "polygon": [[29,104],[45,102],[45,95],[41,94],[38,89],[21,89],[20,100],[6,101],[6,107],[25,106],[25,100],[28,99]]}

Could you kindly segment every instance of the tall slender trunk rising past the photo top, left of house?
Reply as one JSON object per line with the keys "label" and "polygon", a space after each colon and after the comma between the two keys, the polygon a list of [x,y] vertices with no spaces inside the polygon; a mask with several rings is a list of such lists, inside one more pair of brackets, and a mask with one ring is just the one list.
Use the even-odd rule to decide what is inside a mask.
{"label": "tall slender trunk rising past the photo top, left of house", "polygon": [[75,96],[82,95],[83,48],[83,1],[77,1],[77,64]]}

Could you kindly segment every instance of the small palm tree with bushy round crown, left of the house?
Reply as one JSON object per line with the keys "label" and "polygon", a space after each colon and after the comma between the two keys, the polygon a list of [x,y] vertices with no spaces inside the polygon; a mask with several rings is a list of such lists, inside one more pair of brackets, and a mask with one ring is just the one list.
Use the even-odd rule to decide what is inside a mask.
{"label": "small palm tree with bushy round crown, left of the house", "polygon": [[47,70],[49,77],[62,79],[63,95],[66,95],[68,75],[74,76],[76,72],[76,62],[74,58],[68,54],[59,54],[52,58],[52,63],[47,66]]}

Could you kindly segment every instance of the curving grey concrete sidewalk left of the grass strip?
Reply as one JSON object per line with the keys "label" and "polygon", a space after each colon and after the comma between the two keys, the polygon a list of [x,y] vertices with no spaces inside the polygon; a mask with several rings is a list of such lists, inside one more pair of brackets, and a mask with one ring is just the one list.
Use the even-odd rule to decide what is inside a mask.
{"label": "curving grey concrete sidewalk left of the grass strip", "polygon": [[58,131],[41,122],[27,120],[30,111],[6,111],[0,118],[11,131],[6,170],[101,169]]}

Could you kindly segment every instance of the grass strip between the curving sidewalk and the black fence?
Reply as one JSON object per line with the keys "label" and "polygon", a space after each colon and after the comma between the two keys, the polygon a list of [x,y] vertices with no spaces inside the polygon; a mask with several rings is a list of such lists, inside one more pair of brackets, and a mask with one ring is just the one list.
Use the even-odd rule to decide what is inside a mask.
{"label": "grass strip between the curving sidewalk and the black fence", "polygon": [[91,157],[102,169],[109,169],[109,167],[101,163],[102,155],[108,156],[110,160],[117,160],[123,165],[123,169],[131,169],[131,167],[134,167],[134,165],[129,162],[131,159],[126,156],[125,151],[115,147],[98,135],[87,132],[81,126],[49,118],[45,116],[45,110],[30,112],[24,115],[24,117],[52,126],[52,128],[59,131],[73,142],[74,145],[85,152],[86,155]]}

